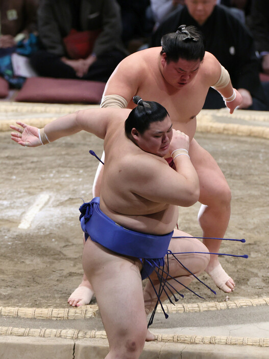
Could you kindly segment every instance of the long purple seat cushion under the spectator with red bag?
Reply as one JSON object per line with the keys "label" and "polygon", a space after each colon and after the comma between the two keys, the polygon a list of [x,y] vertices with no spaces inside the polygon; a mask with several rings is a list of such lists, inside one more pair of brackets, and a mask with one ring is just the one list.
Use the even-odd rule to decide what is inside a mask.
{"label": "long purple seat cushion under the spectator with red bag", "polygon": [[99,81],[30,77],[15,101],[100,104],[105,85]]}

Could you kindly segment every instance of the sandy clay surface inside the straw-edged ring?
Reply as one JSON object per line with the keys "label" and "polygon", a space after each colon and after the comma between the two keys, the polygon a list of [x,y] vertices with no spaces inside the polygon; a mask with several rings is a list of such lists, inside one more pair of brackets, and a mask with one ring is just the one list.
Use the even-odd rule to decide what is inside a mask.
{"label": "sandy clay surface inside the straw-edged ring", "polygon": [[[269,237],[268,140],[197,133],[195,138],[215,158],[232,190],[232,214],[223,253],[248,254],[248,259],[222,257],[237,298],[269,297],[267,241]],[[81,132],[38,148],[23,148],[0,133],[0,305],[19,307],[68,307],[67,298],[82,278],[82,231],[79,207],[92,198],[103,142]],[[19,228],[35,203],[45,203],[30,227]],[[180,208],[179,228],[201,236],[199,203]],[[214,288],[207,276],[201,279]],[[212,294],[198,282],[191,284],[206,301],[222,301],[226,294]],[[185,292],[181,303],[200,302]]]}

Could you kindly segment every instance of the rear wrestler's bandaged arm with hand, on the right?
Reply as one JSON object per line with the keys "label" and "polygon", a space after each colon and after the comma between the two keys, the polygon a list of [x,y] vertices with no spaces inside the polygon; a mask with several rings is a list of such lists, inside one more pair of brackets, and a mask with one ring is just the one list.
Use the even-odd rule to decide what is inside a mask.
{"label": "rear wrestler's bandaged arm with hand, on the right", "polygon": [[240,105],[242,97],[233,88],[228,71],[218,62],[214,55],[206,52],[205,55],[205,73],[209,86],[213,87],[222,95],[226,106],[230,109],[230,114]]}

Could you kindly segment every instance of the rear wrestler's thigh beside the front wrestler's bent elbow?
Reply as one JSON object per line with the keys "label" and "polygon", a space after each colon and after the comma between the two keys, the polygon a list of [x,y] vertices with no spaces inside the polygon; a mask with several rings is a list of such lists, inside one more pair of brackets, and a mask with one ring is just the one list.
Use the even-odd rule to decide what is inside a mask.
{"label": "rear wrestler's thigh beside the front wrestler's bent elbow", "polygon": [[194,139],[190,143],[189,154],[199,176],[200,203],[209,205],[216,200],[229,201],[231,196],[229,185],[212,155]]}

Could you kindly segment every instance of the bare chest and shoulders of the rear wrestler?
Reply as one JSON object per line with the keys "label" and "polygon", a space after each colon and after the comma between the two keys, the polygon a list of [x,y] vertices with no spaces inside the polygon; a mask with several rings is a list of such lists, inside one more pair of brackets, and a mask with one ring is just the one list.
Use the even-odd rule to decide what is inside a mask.
{"label": "bare chest and shoulders of the rear wrestler", "polygon": [[[168,111],[173,128],[186,133],[190,140],[196,129],[196,116],[201,111],[208,89],[219,77],[216,58],[206,52],[195,78],[182,88],[169,85],[160,69],[161,48],[136,52],[120,62],[111,75],[104,95],[117,94],[134,108],[133,96],[161,103]],[[122,75],[121,75],[122,74]]]}

